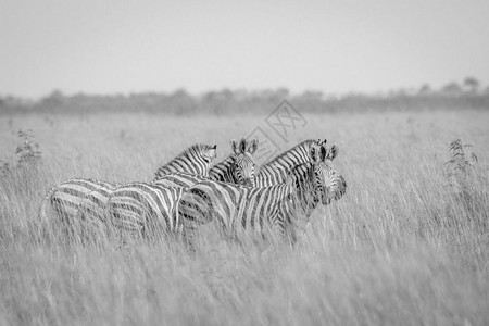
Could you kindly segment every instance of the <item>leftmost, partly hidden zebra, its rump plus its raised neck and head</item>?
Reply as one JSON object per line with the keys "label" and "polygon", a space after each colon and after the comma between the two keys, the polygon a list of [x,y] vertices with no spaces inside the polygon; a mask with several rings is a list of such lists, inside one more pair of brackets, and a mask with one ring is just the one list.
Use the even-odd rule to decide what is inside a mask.
{"label": "leftmost, partly hidden zebra, its rump plus its raised neck and head", "polygon": [[[196,143],[186,149],[175,159],[156,171],[156,175],[165,172],[187,171],[209,175],[209,170],[216,158],[216,145]],[[47,218],[48,206],[54,209],[58,215],[67,224],[82,218],[85,222],[99,223],[98,215],[120,183],[102,181],[91,178],[75,178],[66,180],[48,190],[40,208],[40,217]]]}

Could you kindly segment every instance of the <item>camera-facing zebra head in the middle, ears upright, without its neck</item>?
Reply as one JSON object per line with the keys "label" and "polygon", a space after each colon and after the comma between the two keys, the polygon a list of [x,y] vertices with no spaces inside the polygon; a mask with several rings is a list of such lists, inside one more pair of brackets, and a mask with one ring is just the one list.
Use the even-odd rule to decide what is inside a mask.
{"label": "camera-facing zebra head in the middle, ears upright, without its neck", "polygon": [[231,173],[235,184],[254,186],[254,159],[253,154],[258,149],[259,141],[253,139],[248,142],[244,138],[238,142],[230,141],[231,146]]}

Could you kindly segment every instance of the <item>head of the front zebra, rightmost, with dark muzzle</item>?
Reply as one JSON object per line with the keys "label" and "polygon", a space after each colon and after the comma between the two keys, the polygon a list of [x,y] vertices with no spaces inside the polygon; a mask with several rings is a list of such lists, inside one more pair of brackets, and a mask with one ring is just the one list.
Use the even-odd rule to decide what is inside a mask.
{"label": "head of the front zebra, rightmost, with dark muzzle", "polygon": [[344,191],[347,187],[344,178],[338,176],[333,166],[333,160],[338,155],[338,151],[337,145],[333,145],[328,150],[326,141],[318,147],[311,147],[310,158],[313,163],[313,168],[311,170],[313,173],[312,178],[314,179],[313,184],[315,185],[316,195],[323,204],[329,204],[331,199],[338,198],[339,193]]}

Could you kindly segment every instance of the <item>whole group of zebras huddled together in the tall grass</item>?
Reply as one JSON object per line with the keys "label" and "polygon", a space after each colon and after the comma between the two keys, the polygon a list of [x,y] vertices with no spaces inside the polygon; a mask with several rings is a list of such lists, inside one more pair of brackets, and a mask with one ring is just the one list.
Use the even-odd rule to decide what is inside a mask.
{"label": "whole group of zebras huddled together in the tall grass", "polygon": [[70,230],[115,231],[122,237],[181,235],[188,243],[201,225],[226,235],[296,239],[315,208],[340,199],[344,178],[333,166],[338,147],[305,140],[260,167],[258,140],[231,140],[213,164],[216,146],[193,145],[158,168],[150,183],[115,184],[76,178],[52,187],[40,214],[52,209]]}

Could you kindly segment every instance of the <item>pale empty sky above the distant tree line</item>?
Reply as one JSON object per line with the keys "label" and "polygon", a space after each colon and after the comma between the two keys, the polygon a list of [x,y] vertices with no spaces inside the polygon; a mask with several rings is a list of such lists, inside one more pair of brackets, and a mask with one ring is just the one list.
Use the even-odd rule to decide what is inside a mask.
{"label": "pale empty sky above the distant tree line", "polygon": [[0,95],[489,83],[489,0],[0,0]]}

